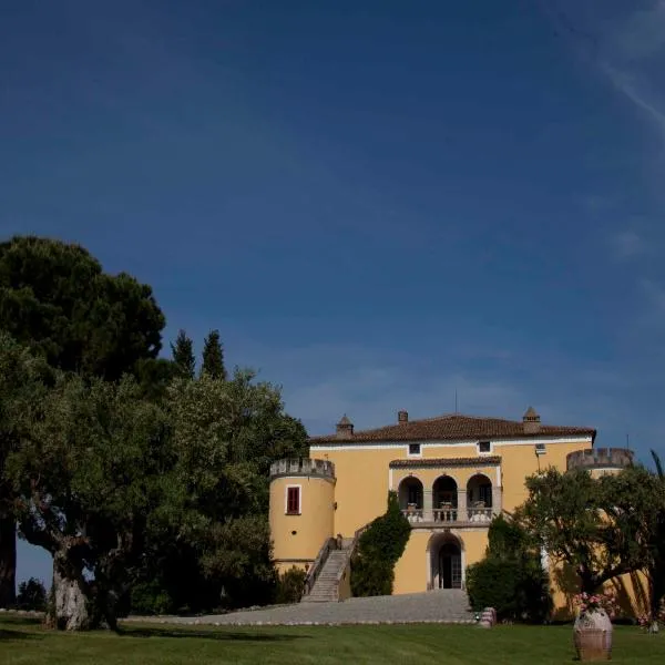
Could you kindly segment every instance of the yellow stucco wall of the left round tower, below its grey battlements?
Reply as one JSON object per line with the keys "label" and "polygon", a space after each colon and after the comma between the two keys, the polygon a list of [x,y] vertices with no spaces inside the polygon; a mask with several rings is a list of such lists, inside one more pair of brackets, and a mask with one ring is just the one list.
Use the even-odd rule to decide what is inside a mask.
{"label": "yellow stucco wall of the left round tower, below its grey battlements", "polygon": [[[287,487],[300,488],[300,514],[286,514]],[[270,483],[273,556],[283,572],[316,559],[325,540],[334,535],[335,483],[318,475],[288,475]],[[294,533],[295,532],[295,533]]]}

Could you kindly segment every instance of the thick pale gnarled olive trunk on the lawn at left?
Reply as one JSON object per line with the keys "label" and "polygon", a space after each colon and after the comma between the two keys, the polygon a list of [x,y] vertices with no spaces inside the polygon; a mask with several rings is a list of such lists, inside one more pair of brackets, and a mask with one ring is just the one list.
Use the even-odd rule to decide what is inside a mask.
{"label": "thick pale gnarled olive trunk on the lawn at left", "polygon": [[53,556],[53,587],[47,624],[59,631],[88,631],[95,627],[91,613],[90,585],[83,571],[66,561],[66,554]]}

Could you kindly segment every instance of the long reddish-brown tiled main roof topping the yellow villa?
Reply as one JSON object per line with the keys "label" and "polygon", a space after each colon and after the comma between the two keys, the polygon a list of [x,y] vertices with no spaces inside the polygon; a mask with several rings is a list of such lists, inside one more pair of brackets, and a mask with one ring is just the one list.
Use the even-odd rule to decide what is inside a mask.
{"label": "long reddish-brown tiled main roof topping the yellow villa", "polygon": [[326,434],[313,437],[309,441],[318,443],[332,442],[376,442],[376,441],[452,441],[452,440],[482,440],[482,439],[512,439],[539,437],[566,437],[590,436],[595,438],[595,429],[589,427],[557,427],[553,424],[540,424],[538,432],[525,433],[522,420],[503,420],[501,418],[478,418],[475,416],[462,416],[453,413],[428,418],[424,420],[410,420],[389,424],[378,429],[345,432],[344,437],[338,434]]}

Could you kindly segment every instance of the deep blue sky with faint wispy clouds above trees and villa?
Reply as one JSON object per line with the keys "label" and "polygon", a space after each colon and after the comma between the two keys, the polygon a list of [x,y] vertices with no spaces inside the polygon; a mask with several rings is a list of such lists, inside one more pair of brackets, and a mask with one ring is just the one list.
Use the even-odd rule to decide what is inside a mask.
{"label": "deep blue sky with faint wispy clouds above trees and villa", "polygon": [[662,449],[663,0],[0,12],[2,236],[150,283],[311,433],[457,389]]}

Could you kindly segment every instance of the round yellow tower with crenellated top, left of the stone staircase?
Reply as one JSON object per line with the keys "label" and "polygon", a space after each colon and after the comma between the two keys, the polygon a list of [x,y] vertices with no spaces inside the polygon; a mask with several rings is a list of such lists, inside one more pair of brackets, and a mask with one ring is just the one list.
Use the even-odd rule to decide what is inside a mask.
{"label": "round yellow tower with crenellated top, left of the stone staircase", "polygon": [[334,536],[335,464],[309,458],[273,462],[269,520],[277,570],[307,570]]}

